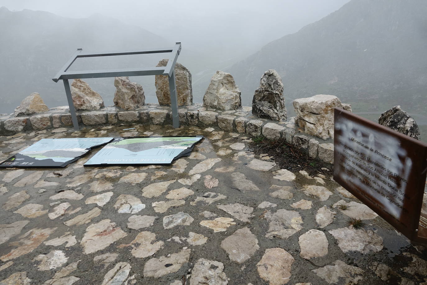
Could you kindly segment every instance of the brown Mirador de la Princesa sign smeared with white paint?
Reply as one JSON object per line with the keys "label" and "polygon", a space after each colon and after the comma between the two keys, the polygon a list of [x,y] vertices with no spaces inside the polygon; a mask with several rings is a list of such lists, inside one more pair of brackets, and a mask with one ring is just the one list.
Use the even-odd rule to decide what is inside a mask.
{"label": "brown Mirador de la Princesa sign smeared with white paint", "polygon": [[427,242],[427,144],[339,108],[334,117],[333,179],[407,238]]}

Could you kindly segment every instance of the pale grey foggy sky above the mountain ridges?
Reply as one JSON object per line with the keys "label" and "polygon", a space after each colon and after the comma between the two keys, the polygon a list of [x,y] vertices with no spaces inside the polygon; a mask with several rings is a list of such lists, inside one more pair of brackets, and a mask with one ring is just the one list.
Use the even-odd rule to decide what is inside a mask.
{"label": "pale grey foggy sky above the mountain ridges", "polygon": [[[298,31],[349,0],[0,0],[10,10],[42,10],[70,18],[99,13],[141,26],[183,48],[215,46],[225,56],[253,53],[269,41]],[[137,35],[135,35],[137,36]]]}

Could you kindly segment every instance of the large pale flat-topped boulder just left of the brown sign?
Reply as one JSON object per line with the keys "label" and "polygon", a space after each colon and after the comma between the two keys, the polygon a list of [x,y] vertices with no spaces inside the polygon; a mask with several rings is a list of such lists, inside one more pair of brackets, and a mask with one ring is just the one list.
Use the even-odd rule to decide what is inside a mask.
{"label": "large pale flat-topped boulder just left of the brown sign", "polygon": [[333,108],[344,109],[338,97],[324,94],[296,99],[293,106],[297,117],[295,123],[305,133],[324,140],[333,137]]}

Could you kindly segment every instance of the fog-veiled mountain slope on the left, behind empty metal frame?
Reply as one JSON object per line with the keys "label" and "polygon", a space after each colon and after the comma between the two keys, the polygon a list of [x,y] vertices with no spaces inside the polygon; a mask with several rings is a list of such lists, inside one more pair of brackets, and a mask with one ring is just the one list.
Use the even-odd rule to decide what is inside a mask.
{"label": "fog-veiled mountain slope on the left, behind empty metal frame", "polygon": [[[64,85],[61,81],[53,82],[51,78],[76,48],[100,52],[173,45],[140,27],[100,15],[71,19],[42,11],[11,12],[1,7],[0,26],[3,27],[0,30],[0,112],[8,113],[13,112],[21,100],[32,92],[40,93],[49,107],[66,105]],[[71,70],[154,66],[163,55],[158,54],[155,58],[119,56],[78,59]],[[104,97],[106,105],[113,103],[114,78],[87,81]],[[146,84],[143,87],[150,94],[155,90],[154,83],[152,87]]]}

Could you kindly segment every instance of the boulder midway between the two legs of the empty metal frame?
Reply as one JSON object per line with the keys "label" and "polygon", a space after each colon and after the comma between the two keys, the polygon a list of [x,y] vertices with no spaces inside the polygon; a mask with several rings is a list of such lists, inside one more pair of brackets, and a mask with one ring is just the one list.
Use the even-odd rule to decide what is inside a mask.
{"label": "boulder midway between the two legs of the empty metal frame", "polygon": [[125,110],[135,110],[144,105],[144,90],[140,84],[130,82],[129,77],[115,77],[114,105]]}

